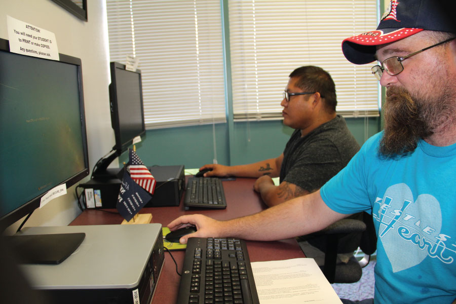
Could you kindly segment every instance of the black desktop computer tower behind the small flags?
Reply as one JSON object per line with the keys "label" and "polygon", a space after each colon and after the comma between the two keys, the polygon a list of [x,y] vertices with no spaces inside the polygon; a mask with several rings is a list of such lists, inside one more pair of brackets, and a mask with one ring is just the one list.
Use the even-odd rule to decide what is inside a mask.
{"label": "black desktop computer tower behind the small flags", "polygon": [[[183,165],[148,167],[156,179],[154,196],[144,207],[179,206],[185,189]],[[86,208],[116,208],[122,183],[123,169],[109,169],[112,178],[92,178],[79,184],[84,188]]]}

